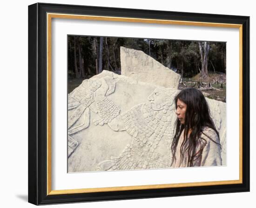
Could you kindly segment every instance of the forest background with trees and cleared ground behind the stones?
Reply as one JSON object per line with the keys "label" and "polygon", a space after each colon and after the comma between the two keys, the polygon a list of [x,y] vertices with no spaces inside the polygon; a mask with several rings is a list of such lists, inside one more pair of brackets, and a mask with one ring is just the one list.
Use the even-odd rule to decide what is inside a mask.
{"label": "forest background with trees and cleared ground behind the stones", "polygon": [[178,89],[195,87],[226,102],[226,43],[169,39],[73,36],[67,39],[68,93],[108,70],[121,74],[120,46],[146,53],[182,76]]}

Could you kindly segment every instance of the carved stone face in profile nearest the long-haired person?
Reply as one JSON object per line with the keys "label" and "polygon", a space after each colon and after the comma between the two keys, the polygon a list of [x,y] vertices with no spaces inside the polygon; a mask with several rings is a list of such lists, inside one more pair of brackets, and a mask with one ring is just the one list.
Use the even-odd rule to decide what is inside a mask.
{"label": "carved stone face in profile nearest the long-haired person", "polygon": [[162,110],[162,104],[164,103],[164,99],[166,98],[166,92],[164,89],[156,88],[149,96],[148,100],[152,104],[153,110]]}

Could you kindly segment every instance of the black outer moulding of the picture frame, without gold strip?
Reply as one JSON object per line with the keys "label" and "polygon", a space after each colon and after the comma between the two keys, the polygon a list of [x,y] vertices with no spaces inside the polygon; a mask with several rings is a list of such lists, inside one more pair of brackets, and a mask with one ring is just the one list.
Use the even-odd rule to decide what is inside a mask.
{"label": "black outer moulding of the picture frame, without gold strip", "polygon": [[[243,183],[47,195],[47,13],[243,25]],[[35,205],[249,191],[249,17],[36,3],[28,6],[28,202]]]}

